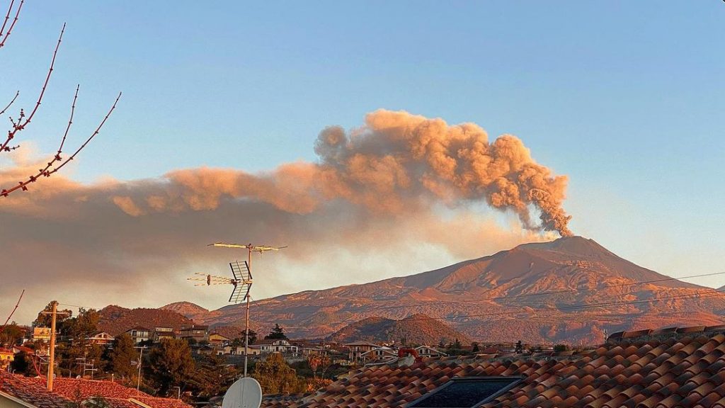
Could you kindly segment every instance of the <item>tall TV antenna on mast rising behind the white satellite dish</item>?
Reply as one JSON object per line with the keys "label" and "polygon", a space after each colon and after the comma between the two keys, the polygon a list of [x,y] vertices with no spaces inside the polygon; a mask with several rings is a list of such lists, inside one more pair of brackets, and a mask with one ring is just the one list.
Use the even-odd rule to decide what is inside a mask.
{"label": "tall TV antenna on mast rising behind the white satellite dish", "polygon": [[[188,280],[194,280],[194,281],[202,281],[205,283],[196,284],[196,286],[210,286],[210,285],[233,285],[234,289],[232,290],[231,295],[229,296],[229,302],[230,303],[236,303],[239,304],[243,301],[247,302],[247,317],[244,320],[244,378],[247,378],[247,357],[249,356],[249,290],[252,289],[252,252],[257,252],[262,255],[262,253],[268,252],[270,250],[278,251],[283,248],[287,248],[286,246],[283,247],[272,247],[270,245],[252,245],[252,244],[233,244],[233,243],[227,243],[227,242],[215,242],[213,244],[209,244],[207,246],[210,247],[220,247],[220,248],[240,248],[240,249],[246,249],[247,250],[247,261],[233,261],[229,263],[229,268],[231,269],[231,274],[233,276],[233,279],[228,277],[220,277],[216,275],[210,275],[210,274],[202,274],[202,273],[196,273],[197,275],[201,275],[202,277],[190,277]],[[244,295],[242,295],[244,294]],[[244,390],[244,387],[241,388]],[[242,392],[244,393],[244,392]],[[240,403],[241,404],[241,403]],[[241,405],[240,405],[241,407]],[[245,406],[246,407],[246,406]],[[257,408],[259,405],[257,405]]]}

